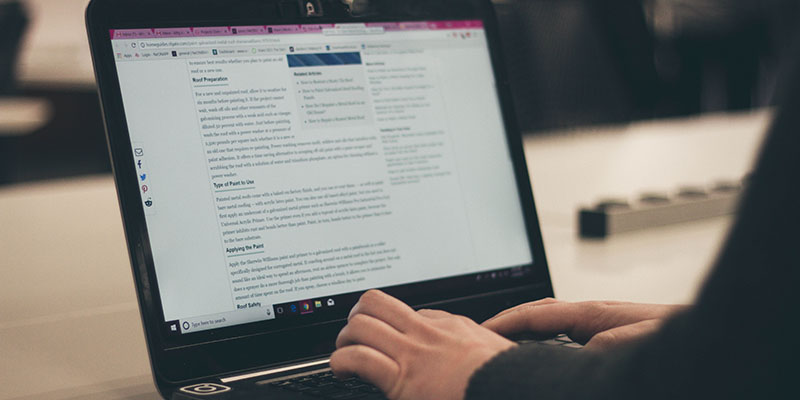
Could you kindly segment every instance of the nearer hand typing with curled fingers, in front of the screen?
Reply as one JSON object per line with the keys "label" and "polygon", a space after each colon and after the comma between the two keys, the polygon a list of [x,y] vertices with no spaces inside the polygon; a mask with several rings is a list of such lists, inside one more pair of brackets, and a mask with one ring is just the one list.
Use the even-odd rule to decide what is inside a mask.
{"label": "nearer hand typing with curled fingers, in front of the screen", "polygon": [[371,290],[350,311],[331,368],[372,382],[392,400],[460,400],[475,370],[514,346],[467,317],[415,312]]}

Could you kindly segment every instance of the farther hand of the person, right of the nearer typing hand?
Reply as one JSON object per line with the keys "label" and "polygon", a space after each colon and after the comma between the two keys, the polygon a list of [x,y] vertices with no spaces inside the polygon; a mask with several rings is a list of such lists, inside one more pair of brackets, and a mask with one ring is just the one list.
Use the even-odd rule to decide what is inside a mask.
{"label": "farther hand of the person, right of the nearer typing hand", "polygon": [[569,303],[542,299],[505,310],[482,325],[503,336],[528,332],[543,337],[561,333],[587,348],[606,349],[656,331],[685,306],[614,301]]}

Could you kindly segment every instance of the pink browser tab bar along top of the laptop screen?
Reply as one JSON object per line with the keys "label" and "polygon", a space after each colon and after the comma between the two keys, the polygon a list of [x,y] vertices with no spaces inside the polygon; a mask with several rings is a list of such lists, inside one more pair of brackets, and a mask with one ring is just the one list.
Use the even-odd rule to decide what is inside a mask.
{"label": "pink browser tab bar along top of the laptop screen", "polygon": [[[280,34],[337,34],[349,30],[367,32],[433,31],[448,29],[482,28],[480,20],[463,21],[414,21],[414,22],[367,22],[353,24],[303,24],[303,25],[254,25],[254,26],[206,26],[187,28],[110,29],[112,40],[181,38],[203,36],[248,36]],[[380,32],[378,32],[380,31]]]}

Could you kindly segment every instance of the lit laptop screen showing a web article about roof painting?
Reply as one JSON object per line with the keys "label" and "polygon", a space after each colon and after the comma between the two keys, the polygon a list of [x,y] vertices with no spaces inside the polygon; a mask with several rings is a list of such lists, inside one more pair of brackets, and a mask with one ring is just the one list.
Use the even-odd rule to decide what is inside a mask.
{"label": "lit laptop screen showing a web article about roof painting", "polygon": [[480,21],[110,34],[169,333],[530,272]]}

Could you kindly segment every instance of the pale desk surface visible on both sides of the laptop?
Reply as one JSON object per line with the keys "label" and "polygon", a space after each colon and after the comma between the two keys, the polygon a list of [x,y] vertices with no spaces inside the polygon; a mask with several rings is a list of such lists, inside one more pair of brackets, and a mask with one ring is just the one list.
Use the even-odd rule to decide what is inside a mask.
{"label": "pale desk surface visible on both sides of the laptop", "polygon": [[[587,241],[581,204],[739,178],[768,112],[526,140],[556,295],[691,302],[730,218]],[[0,188],[0,399],[154,399],[109,176]]]}

